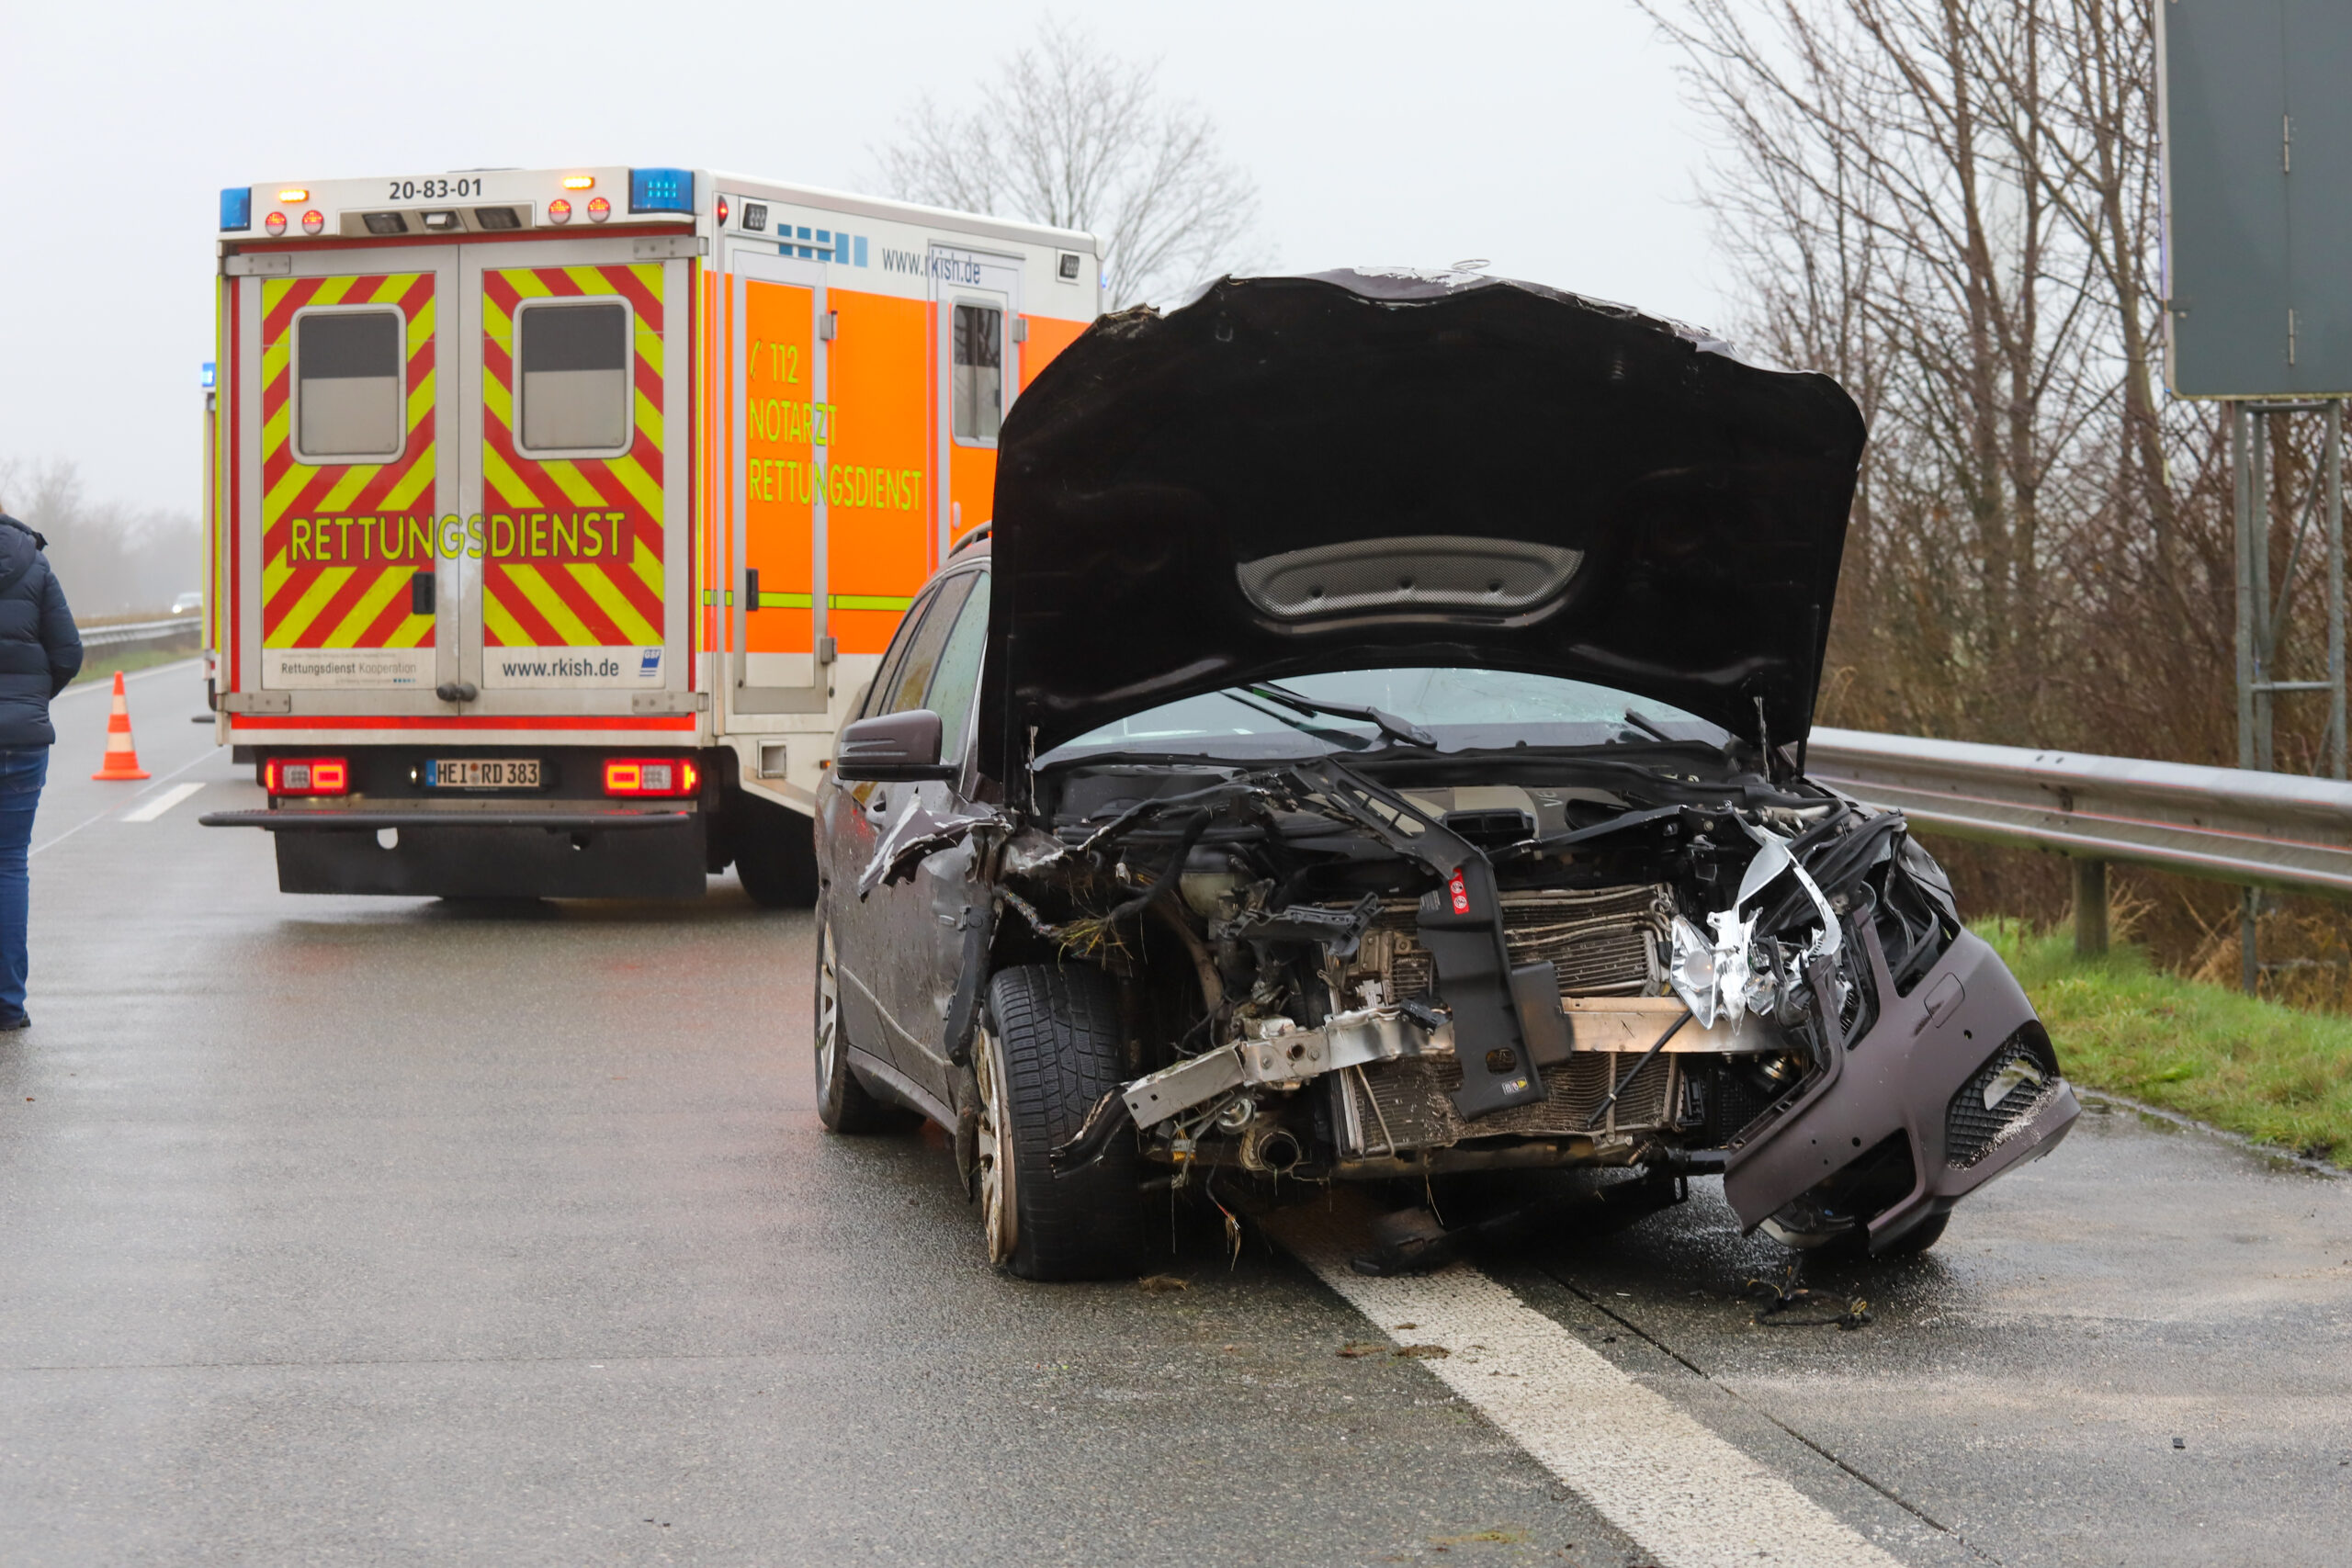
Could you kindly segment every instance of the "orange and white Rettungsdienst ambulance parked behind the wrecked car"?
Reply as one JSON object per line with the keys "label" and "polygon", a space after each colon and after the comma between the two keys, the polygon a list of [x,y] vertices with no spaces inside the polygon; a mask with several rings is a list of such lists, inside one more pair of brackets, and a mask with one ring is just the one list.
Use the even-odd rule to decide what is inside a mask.
{"label": "orange and white Rettungsdienst ambulance parked behind the wrecked car", "polygon": [[289,893],[814,898],[833,731],[990,520],[1091,235],[708,169],[221,193],[214,733]]}

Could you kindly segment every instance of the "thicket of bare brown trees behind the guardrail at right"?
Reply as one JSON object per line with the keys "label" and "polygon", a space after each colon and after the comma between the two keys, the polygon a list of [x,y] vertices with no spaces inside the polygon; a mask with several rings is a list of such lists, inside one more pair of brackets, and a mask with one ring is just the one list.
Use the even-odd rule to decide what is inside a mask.
{"label": "thicket of bare brown trees behind the guardrail at right", "polygon": [[[2147,0],[1637,2],[1717,129],[1700,195],[1736,329],[1870,421],[1823,719],[2230,762],[2227,454],[2209,404],[2157,386]],[[2277,583],[2317,555],[2291,503],[2314,425],[2270,430]],[[2321,670],[2319,599],[2305,581],[2277,616],[2281,677]],[[2321,705],[2281,708],[2277,745],[2312,771]],[[2065,905],[2049,858],[1950,849],[1990,907]],[[2150,907],[2143,936],[2190,969],[2234,943],[2225,889]],[[2340,912],[2300,931],[2340,959]]]}

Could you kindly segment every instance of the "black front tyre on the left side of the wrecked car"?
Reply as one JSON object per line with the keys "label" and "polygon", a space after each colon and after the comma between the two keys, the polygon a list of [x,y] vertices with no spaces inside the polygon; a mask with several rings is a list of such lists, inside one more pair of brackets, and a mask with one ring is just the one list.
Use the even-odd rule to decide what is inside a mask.
{"label": "black front tyre on the left side of the wrecked car", "polygon": [[1112,1140],[1084,1171],[1047,1166],[1047,1152],[1127,1077],[1110,978],[1084,964],[1007,969],[988,983],[988,1018],[978,1044],[1002,1065],[988,1074],[988,1119],[1002,1119],[997,1147],[1014,1175],[1004,1262],[1023,1279],[1134,1279],[1148,1241],[1136,1140]]}

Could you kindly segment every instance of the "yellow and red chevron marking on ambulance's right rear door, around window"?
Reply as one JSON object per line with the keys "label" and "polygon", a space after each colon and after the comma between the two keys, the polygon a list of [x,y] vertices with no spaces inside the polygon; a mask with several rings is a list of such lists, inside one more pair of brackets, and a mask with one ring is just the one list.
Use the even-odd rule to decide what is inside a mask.
{"label": "yellow and red chevron marking on ambulance's right rear door, around window", "polygon": [[[635,315],[635,435],[616,458],[515,451],[515,306],[619,296]],[[663,639],[661,263],[482,275],[482,642],[595,649]]]}

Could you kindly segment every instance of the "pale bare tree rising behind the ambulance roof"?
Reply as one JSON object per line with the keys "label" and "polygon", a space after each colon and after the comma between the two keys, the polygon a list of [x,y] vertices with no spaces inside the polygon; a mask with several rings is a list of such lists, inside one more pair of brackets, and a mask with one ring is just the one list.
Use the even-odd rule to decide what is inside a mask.
{"label": "pale bare tree rising behind the ambulance roof", "polygon": [[1207,110],[1169,99],[1157,61],[1122,61],[1051,16],[978,108],[922,99],[877,158],[898,197],[1094,233],[1115,310],[1254,261],[1258,190]]}

